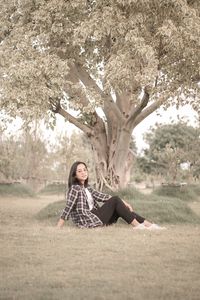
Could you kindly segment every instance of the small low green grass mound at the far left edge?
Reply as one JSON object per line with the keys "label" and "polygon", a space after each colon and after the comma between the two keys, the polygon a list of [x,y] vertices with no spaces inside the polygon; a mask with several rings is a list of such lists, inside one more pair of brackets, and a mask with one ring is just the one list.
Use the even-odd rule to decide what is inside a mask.
{"label": "small low green grass mound at the far left edge", "polygon": [[20,183],[0,184],[0,196],[4,197],[34,197],[35,193],[30,187]]}

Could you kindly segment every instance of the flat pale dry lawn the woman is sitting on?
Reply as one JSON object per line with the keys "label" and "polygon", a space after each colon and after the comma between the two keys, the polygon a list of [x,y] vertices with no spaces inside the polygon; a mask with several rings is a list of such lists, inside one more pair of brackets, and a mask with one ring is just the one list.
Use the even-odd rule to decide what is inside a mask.
{"label": "flat pale dry lawn the woman is sitting on", "polygon": [[0,198],[0,299],[200,299],[199,225],[59,230],[37,221],[58,200]]}

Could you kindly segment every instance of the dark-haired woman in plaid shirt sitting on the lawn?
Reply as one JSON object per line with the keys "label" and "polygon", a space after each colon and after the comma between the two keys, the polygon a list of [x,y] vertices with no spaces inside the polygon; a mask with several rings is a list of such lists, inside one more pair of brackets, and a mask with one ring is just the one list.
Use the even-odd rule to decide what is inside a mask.
{"label": "dark-haired woman in plaid shirt sitting on the lawn", "polygon": [[[94,190],[88,185],[88,169],[84,162],[75,162],[68,179],[66,207],[57,226],[61,228],[65,219],[81,228],[111,225],[121,217],[135,229],[163,229],[136,214],[132,207],[118,196],[110,196]],[[98,202],[104,202],[99,206]]]}

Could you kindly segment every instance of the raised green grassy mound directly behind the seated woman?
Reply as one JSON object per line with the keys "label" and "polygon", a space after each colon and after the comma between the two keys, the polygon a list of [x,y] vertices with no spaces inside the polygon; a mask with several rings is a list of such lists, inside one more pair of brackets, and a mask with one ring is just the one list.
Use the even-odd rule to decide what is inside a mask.
{"label": "raised green grassy mound directly behind the seated woman", "polygon": [[[180,198],[159,196],[156,193],[144,195],[134,188],[121,190],[117,194],[122,199],[126,199],[138,214],[152,222],[159,224],[200,223],[200,217],[193,212],[187,202]],[[51,203],[37,214],[37,219],[55,224],[64,207],[65,200]],[[71,223],[67,224],[71,226]]]}

